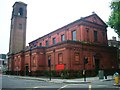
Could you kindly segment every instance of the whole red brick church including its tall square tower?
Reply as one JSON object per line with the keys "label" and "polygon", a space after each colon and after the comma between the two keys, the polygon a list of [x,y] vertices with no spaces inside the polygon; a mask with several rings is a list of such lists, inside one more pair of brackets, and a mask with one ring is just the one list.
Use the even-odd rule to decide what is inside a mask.
{"label": "whole red brick church including its tall square tower", "polygon": [[27,4],[15,2],[11,18],[8,70],[37,75],[44,71],[88,75],[118,69],[117,49],[108,46],[107,25],[96,14],[82,17],[37,38],[26,48]]}

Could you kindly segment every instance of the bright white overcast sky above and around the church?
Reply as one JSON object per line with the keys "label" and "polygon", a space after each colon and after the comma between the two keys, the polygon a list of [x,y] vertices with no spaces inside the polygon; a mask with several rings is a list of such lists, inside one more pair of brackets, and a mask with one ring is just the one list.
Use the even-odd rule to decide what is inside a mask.
{"label": "bright white overcast sky above and around the church", "polygon": [[[18,0],[0,0],[0,54],[9,52],[12,6]],[[94,11],[104,22],[111,14],[111,0],[20,0],[27,4],[26,46],[44,36]],[[108,39],[117,34],[107,28]]]}

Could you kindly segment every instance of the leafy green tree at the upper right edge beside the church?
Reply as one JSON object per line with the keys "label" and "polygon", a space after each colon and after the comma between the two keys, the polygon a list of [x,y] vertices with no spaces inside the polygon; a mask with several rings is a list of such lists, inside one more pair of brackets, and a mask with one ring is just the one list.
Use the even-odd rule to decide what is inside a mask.
{"label": "leafy green tree at the upper right edge beside the church", "polygon": [[110,8],[112,11],[107,24],[120,36],[120,1],[111,2]]}

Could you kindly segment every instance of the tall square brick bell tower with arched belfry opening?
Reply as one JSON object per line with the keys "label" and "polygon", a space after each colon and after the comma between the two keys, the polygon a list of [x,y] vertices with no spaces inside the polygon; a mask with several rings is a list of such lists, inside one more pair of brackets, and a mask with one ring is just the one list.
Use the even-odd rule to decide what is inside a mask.
{"label": "tall square brick bell tower with arched belfry opening", "polygon": [[26,46],[27,4],[15,2],[11,17],[9,54],[15,54]]}

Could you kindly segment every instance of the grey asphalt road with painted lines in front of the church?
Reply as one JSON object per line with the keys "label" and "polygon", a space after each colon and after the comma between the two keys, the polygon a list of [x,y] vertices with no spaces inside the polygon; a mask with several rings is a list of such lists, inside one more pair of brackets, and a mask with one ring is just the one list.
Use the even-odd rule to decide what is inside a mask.
{"label": "grey asphalt road with painted lines in front of the church", "polygon": [[[2,90],[95,90],[102,88],[103,90],[120,90],[120,87],[114,86],[114,81],[93,81],[86,84],[68,84],[68,83],[54,83],[48,81],[26,80],[15,78],[13,76],[2,77]],[[84,89],[83,89],[84,88]]]}

